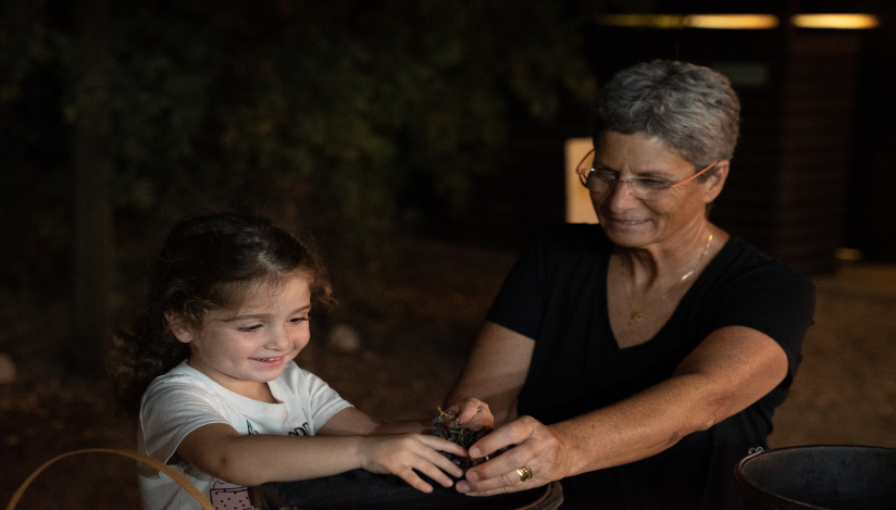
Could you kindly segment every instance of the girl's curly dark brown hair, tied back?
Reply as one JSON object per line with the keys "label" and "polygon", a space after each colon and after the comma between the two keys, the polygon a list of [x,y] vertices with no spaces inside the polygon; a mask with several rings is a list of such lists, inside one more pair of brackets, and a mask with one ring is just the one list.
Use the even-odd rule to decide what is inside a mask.
{"label": "girl's curly dark brown hair, tied back", "polygon": [[189,358],[166,313],[199,328],[211,309],[237,310],[251,285],[279,284],[297,274],[308,278],[312,306],[335,304],[311,242],[270,220],[227,212],[177,223],[155,261],[144,310],[113,338],[108,366],[121,406],[136,413],[152,380]]}

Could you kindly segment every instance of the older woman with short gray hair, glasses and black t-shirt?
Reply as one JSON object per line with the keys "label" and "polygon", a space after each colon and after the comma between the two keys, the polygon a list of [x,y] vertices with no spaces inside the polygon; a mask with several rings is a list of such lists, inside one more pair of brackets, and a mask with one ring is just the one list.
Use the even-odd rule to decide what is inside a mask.
{"label": "older woman with short gray hair, glasses and black t-shirt", "polygon": [[708,220],[738,123],[707,67],[658,61],[607,84],[581,169],[599,225],[535,239],[448,396],[502,424],[471,456],[515,445],[459,490],[562,478],[564,509],[742,506],[731,473],[766,446],[814,289]]}

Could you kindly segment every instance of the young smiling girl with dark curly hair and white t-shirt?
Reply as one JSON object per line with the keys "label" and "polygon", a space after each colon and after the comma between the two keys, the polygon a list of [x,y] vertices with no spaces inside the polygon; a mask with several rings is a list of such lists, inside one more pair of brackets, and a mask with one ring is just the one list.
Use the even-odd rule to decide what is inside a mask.
{"label": "young smiling girl with dark curly hair and white t-shirt", "polygon": [[[178,223],[157,261],[146,313],[116,338],[122,402],[139,409],[139,449],[184,474],[217,508],[250,508],[247,487],[358,468],[393,473],[428,493],[413,470],[449,487],[460,468],[423,434],[428,421],[383,424],[293,359],[309,341],[309,312],[329,306],[314,253],[270,221],[233,213]],[[140,396],[142,398],[140,398]],[[475,399],[452,407],[491,426]],[[147,510],[199,508],[158,471],[141,472]]]}

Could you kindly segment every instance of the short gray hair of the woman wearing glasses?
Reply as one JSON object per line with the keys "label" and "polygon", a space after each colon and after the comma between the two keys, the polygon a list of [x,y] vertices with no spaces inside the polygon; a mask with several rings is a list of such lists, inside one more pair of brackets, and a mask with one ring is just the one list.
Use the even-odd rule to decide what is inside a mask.
{"label": "short gray hair of the woman wearing glasses", "polygon": [[647,133],[702,167],[734,156],[741,102],[722,74],[656,60],[613,76],[600,91],[594,114],[595,138],[605,130]]}

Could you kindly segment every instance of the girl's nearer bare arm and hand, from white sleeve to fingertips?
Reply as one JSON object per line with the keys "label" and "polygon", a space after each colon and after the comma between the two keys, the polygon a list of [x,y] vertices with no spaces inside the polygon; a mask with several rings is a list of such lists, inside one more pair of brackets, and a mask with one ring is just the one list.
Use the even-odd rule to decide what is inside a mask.
{"label": "girl's nearer bare arm and hand, from white sleeve to fingertips", "polygon": [[463,475],[460,468],[437,450],[466,456],[459,445],[421,434],[240,435],[231,425],[213,423],[189,433],[181,441],[177,453],[212,476],[245,486],[315,478],[362,468],[373,473],[396,474],[412,487],[430,493],[433,487],[413,470],[446,487],[452,482],[445,473]]}

